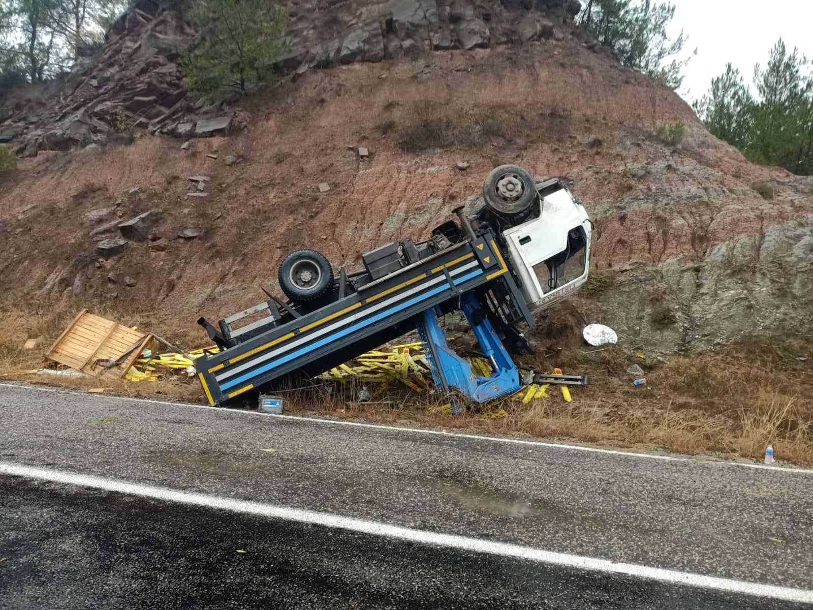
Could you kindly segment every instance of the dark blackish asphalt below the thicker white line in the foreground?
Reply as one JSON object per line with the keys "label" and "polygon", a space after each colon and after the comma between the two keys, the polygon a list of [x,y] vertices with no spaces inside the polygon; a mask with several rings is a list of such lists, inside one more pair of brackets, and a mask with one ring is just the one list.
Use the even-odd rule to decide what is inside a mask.
{"label": "dark blackish asphalt below the thicker white line in the foreground", "polygon": [[4,609],[802,608],[15,477],[0,509]]}

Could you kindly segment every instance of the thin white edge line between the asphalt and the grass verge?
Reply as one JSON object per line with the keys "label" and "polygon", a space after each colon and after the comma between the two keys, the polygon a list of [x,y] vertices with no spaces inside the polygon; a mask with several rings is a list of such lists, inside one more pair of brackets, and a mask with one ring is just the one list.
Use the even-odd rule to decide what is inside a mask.
{"label": "thin white edge line between the asphalt and the grass verge", "polygon": [[522,438],[503,438],[493,436],[481,436],[480,434],[462,434],[457,432],[446,432],[446,430],[433,430],[427,428],[406,428],[402,426],[383,425],[383,424],[365,424],[362,421],[347,421],[347,420],[325,420],[319,417],[307,417],[297,415],[277,415],[276,413],[262,413],[259,411],[241,411],[238,409],[228,409],[224,407],[210,407],[205,404],[193,403],[172,403],[167,400],[153,400],[153,399],[131,399],[126,396],[115,396],[94,394],[91,396],[85,392],[77,392],[74,390],[59,390],[55,388],[43,388],[41,386],[23,386],[15,383],[0,383],[0,387],[15,388],[15,390],[39,390],[41,392],[52,392],[55,394],[71,394],[73,396],[80,396],[85,399],[118,399],[129,400],[136,403],[151,403],[163,404],[169,407],[193,407],[197,409],[211,409],[213,411],[224,414],[236,415],[249,415],[249,416],[263,416],[263,417],[276,417],[280,420],[297,420],[314,424],[325,425],[345,425],[357,428],[372,428],[386,430],[389,432],[407,432],[410,434],[430,434],[433,436],[441,436],[447,438],[467,438],[475,441],[489,441],[489,442],[503,442],[511,445],[524,445],[526,447],[550,447],[552,449],[567,449],[569,451],[586,451],[588,453],[598,453],[604,455],[622,455],[624,457],[633,458],[648,458],[650,460],[662,460],[666,462],[688,462],[690,464],[703,464],[710,466],[734,466],[741,468],[754,468],[756,470],[776,470],[782,473],[793,474],[808,474],[813,475],[811,468],[786,468],[784,466],[768,466],[767,464],[749,464],[747,462],[732,462],[728,460],[705,460],[702,457],[681,457],[678,455],[655,455],[651,453],[637,453],[635,451],[621,451],[619,449],[602,449],[600,447],[585,447],[583,445],[566,445],[560,442],[542,442],[542,441],[526,441]]}

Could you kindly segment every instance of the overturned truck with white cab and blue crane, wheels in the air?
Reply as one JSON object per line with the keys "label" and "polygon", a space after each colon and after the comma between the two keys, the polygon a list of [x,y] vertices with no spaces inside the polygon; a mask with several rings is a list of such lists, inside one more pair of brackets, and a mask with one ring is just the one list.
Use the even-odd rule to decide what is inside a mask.
{"label": "overturned truck with white cab and blue crane, wheels in the air", "polygon": [[[316,251],[292,252],[279,270],[285,299],[263,289],[267,300],[217,326],[200,318],[220,348],[195,360],[209,403],[293,373],[315,377],[415,329],[443,392],[485,402],[519,389],[509,351],[529,351],[521,325],[587,280],[592,224],[559,178],[534,181],[512,165],[489,173],[480,204],[454,214],[425,242],[365,253],[355,272],[334,273]],[[453,311],[471,325],[489,377],[447,345],[437,319]]]}

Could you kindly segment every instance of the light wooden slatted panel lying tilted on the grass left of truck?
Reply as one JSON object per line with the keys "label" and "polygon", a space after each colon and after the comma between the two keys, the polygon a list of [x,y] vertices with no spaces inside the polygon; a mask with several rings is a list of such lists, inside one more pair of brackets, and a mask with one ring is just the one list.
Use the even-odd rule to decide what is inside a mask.
{"label": "light wooden slatted panel lying tilted on the grass left of truck", "polygon": [[[155,351],[151,334],[139,333],[83,309],[50,346],[46,358],[94,377],[124,377],[146,347]],[[98,360],[118,360],[123,356],[121,363],[111,368],[97,364]]]}

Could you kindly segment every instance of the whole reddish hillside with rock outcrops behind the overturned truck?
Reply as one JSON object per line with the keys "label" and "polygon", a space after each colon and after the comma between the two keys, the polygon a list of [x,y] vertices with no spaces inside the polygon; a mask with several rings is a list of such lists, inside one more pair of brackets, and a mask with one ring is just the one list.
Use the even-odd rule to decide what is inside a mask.
{"label": "whole reddish hillside with rock outcrops behind the overturned truck", "polygon": [[[650,354],[809,328],[813,181],[754,166],[711,137],[671,90],[622,68],[577,31],[571,4],[438,2],[437,13],[420,10],[414,27],[399,25],[408,12],[400,0],[292,4],[299,46],[290,76],[224,105],[159,100],[182,91],[177,72],[159,72],[176,65],[164,51],[145,59],[156,67],[141,74],[146,63],[116,59],[111,81],[89,78],[112,69],[103,65],[109,50],[131,45],[143,28],[176,24],[172,34],[142,31],[142,45],[158,34],[190,35],[171,11],[138,14],[145,24],[111,37],[74,93],[67,90],[83,77],[11,100],[21,104],[11,108],[13,124],[28,124],[14,142],[36,150],[0,194],[4,301],[138,309],[202,337],[198,315],[257,302],[257,286],[275,285],[291,249],[314,247],[354,267],[361,251],[425,236],[476,196],[490,168],[510,162],[565,176],[596,223],[593,280],[567,315],[613,325]],[[463,50],[467,33],[485,32],[481,24],[485,42]],[[372,41],[348,42],[368,30]],[[436,50],[447,39],[460,48]],[[326,46],[333,65],[314,69],[328,65],[320,60]],[[351,47],[359,52],[347,54]],[[165,93],[139,85],[158,81]],[[110,82],[122,85],[99,101]],[[75,92],[89,85],[98,97],[74,107]],[[125,110],[128,120],[146,120],[133,142],[102,115],[90,117],[108,129],[88,128],[96,146],[67,137],[58,148],[46,137],[71,113],[136,98],[155,99]],[[20,120],[29,115],[31,123]],[[209,117],[226,125],[201,130]],[[659,127],[676,122],[685,124],[682,141],[663,142]],[[211,137],[167,135],[178,124],[191,124],[185,136]],[[329,190],[320,191],[323,183]],[[125,220],[133,222],[120,229]]]}

